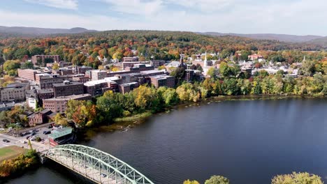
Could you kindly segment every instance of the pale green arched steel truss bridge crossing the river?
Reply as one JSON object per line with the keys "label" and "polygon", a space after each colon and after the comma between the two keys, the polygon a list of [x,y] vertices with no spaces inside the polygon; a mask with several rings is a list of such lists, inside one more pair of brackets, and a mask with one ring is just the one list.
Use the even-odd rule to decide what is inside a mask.
{"label": "pale green arched steel truss bridge crossing the river", "polygon": [[129,164],[96,148],[75,144],[59,145],[50,148],[45,157],[95,183],[153,184]]}

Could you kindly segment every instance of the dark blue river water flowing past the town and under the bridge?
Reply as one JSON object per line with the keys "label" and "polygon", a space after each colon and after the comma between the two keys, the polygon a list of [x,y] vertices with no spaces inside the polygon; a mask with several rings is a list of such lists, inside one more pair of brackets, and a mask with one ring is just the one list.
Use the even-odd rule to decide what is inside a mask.
{"label": "dark blue river water flowing past the town and under the bridge", "polygon": [[[327,181],[327,99],[230,100],[148,118],[126,132],[98,132],[80,144],[124,160],[154,183],[270,183],[277,174],[308,171]],[[6,183],[83,183],[49,163]]]}

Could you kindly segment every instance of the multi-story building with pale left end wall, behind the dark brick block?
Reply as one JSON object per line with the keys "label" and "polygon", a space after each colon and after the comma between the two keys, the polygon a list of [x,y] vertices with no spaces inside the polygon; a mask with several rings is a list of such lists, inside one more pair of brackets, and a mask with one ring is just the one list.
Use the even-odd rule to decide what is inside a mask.
{"label": "multi-story building with pale left end wall, behind the dark brick block", "polygon": [[62,83],[65,80],[71,81],[73,77],[66,75],[50,75],[36,74],[36,84],[40,85],[41,89],[52,89],[53,84]]}

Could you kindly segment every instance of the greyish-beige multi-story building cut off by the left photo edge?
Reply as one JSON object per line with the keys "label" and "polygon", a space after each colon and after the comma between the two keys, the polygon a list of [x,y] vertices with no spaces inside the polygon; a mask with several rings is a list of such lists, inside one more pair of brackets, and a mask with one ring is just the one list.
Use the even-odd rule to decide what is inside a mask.
{"label": "greyish-beige multi-story building cut off by the left photo edge", "polygon": [[25,91],[29,88],[29,84],[10,84],[6,88],[0,88],[1,102],[20,102],[25,100]]}

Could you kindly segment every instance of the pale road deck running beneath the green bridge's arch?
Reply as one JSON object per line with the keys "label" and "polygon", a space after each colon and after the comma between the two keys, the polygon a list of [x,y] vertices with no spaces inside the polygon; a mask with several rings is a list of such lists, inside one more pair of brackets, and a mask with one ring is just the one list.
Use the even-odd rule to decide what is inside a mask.
{"label": "pale road deck running beneath the green bridge's arch", "polygon": [[[57,156],[56,158],[47,155],[48,158],[58,162],[59,164],[64,165],[68,169],[71,169],[86,178],[96,182],[96,183],[103,183],[103,184],[123,184],[122,182],[116,181],[115,178],[110,178],[109,174],[106,171],[100,173],[98,169],[94,169],[92,166],[87,166],[87,168],[81,164],[80,162],[76,162],[72,158],[65,157],[62,155]],[[106,174],[106,177],[102,177],[101,174]]]}

